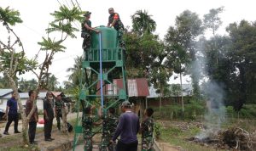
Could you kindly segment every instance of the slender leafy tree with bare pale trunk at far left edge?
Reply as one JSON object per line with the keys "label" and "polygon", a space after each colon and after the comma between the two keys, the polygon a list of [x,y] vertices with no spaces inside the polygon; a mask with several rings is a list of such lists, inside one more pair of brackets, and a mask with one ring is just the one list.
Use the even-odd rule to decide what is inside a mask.
{"label": "slender leafy tree with bare pale trunk at far left edge", "polygon": [[[22,23],[19,11],[9,9],[9,7],[4,9],[0,8],[0,21],[3,22],[3,27],[6,28],[6,31],[9,34],[7,43],[0,41],[0,71],[3,72],[3,76],[7,77],[9,87],[11,87],[17,94],[17,101],[22,118],[23,143],[27,144],[27,125],[32,114],[29,116],[25,115],[15,79],[17,79],[16,76],[18,73],[23,74],[29,69],[35,69],[37,62],[26,59],[23,44],[20,41],[19,36],[17,36],[15,31],[10,27],[11,25]],[[14,42],[11,37],[14,37]]]}

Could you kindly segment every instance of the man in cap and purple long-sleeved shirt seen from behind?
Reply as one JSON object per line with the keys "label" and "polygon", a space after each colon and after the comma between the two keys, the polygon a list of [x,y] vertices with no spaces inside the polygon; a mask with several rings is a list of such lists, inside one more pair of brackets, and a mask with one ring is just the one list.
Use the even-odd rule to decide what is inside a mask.
{"label": "man in cap and purple long-sleeved shirt seen from behind", "polygon": [[124,101],[121,109],[123,113],[119,117],[119,124],[111,143],[115,142],[120,135],[120,140],[116,146],[117,151],[137,151],[137,132],[140,129],[139,118],[131,112],[129,101]]}

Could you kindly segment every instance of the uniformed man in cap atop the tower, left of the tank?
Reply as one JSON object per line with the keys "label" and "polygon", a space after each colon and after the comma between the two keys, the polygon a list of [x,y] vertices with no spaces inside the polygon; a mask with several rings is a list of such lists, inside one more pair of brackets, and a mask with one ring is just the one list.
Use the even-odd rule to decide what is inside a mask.
{"label": "uniformed man in cap atop the tower, left of the tank", "polygon": [[90,48],[90,42],[91,42],[91,33],[92,31],[95,31],[96,33],[99,33],[100,31],[96,30],[95,28],[91,28],[91,22],[90,22],[90,14],[91,12],[87,11],[84,14],[84,22],[82,23],[82,34],[81,36],[84,38],[83,46],[82,48]]}

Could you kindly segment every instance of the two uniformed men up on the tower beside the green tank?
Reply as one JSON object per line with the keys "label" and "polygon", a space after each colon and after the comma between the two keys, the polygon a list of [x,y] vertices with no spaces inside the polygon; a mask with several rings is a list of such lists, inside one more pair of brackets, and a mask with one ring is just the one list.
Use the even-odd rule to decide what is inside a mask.
{"label": "two uniformed men up on the tower beside the green tank", "polygon": [[[108,27],[113,27],[116,31],[118,31],[118,38],[119,38],[119,47],[125,48],[125,42],[123,40],[123,35],[125,31],[125,27],[120,20],[119,14],[115,13],[113,8],[108,8],[108,13],[110,14],[108,17]],[[84,22],[82,23],[82,33],[81,36],[84,38],[82,48],[90,48],[91,43],[91,34],[93,31],[96,33],[99,33],[100,31],[96,30],[96,28],[91,27],[91,21],[90,21],[90,14],[91,12],[86,12],[84,14]]]}

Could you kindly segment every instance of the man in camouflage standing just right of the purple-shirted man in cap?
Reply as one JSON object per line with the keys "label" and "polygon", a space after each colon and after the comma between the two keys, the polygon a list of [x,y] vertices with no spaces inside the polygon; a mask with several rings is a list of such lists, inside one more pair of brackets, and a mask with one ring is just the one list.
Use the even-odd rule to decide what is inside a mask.
{"label": "man in camouflage standing just right of the purple-shirted man in cap", "polygon": [[152,151],[153,150],[153,132],[154,132],[154,120],[152,115],[154,110],[151,108],[145,109],[145,118],[141,124],[142,132],[142,151]]}

